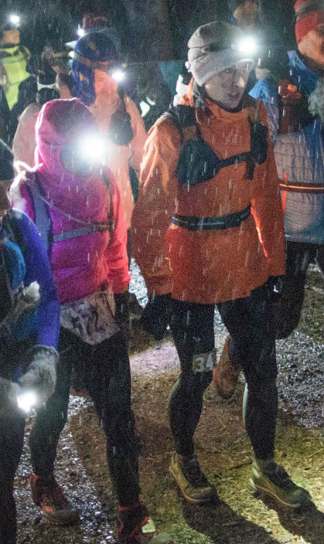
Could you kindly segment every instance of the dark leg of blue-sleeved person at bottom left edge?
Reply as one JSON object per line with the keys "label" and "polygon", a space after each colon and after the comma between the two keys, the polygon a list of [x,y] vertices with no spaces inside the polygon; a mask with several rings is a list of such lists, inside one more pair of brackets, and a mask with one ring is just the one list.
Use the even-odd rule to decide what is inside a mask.
{"label": "dark leg of blue-sleeved person at bottom left edge", "polygon": [[17,520],[13,478],[23,450],[25,419],[0,417],[0,542],[15,544]]}

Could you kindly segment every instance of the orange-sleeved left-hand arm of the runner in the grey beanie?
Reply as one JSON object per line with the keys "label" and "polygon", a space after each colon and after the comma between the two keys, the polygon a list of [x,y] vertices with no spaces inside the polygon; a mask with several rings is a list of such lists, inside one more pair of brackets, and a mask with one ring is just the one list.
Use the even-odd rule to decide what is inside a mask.
{"label": "orange-sleeved left-hand arm of the runner in the grey beanie", "polygon": [[139,197],[132,214],[132,253],[149,295],[171,292],[166,233],[175,209],[180,133],[171,120],[159,120],[144,147]]}

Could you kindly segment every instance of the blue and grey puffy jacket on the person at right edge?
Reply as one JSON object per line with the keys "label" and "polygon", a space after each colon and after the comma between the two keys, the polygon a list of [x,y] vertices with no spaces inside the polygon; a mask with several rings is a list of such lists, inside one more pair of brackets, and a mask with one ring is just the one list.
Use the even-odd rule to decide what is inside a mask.
{"label": "blue and grey puffy jacket on the person at right edge", "polygon": [[[319,73],[305,66],[297,51],[289,54],[289,68],[292,82],[309,97],[316,89]],[[278,88],[272,87],[273,101],[264,99],[268,82],[261,80],[258,88],[252,89],[251,94],[266,106],[269,125],[278,127],[280,110],[273,107],[273,101],[278,99]],[[287,180],[288,184],[305,183],[323,187],[324,180],[324,149],[323,125],[319,118],[298,132],[287,134],[272,133],[275,152],[275,163],[279,180]],[[285,209],[285,237],[291,242],[309,242],[323,244],[324,242],[324,193],[283,191],[282,201]]]}

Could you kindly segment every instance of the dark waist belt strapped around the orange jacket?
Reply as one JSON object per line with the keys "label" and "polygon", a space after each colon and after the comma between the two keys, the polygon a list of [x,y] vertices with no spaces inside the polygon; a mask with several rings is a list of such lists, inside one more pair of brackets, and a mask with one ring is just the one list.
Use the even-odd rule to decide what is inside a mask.
{"label": "dark waist belt strapped around the orange jacket", "polygon": [[217,230],[224,228],[239,227],[242,221],[245,221],[251,214],[251,204],[244,210],[236,211],[235,214],[220,217],[196,217],[179,216],[173,214],[172,223],[178,227],[187,228],[187,230]]}

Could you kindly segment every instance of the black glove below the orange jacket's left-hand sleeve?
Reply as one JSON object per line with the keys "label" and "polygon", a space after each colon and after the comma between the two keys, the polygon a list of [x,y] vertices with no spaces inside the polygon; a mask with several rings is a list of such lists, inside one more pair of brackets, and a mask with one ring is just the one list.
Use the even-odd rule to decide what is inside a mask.
{"label": "black glove below the orange jacket's left-hand sleeve", "polygon": [[139,320],[144,330],[155,340],[162,340],[170,322],[171,295],[151,295]]}

